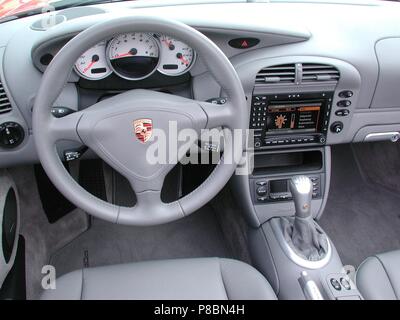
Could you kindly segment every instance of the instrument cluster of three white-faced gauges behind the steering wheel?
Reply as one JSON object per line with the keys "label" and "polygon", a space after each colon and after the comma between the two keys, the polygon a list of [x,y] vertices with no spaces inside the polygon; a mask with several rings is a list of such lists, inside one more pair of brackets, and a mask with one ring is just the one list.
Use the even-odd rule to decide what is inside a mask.
{"label": "instrument cluster of three white-faced gauges behind the steering wheel", "polygon": [[184,42],[161,34],[132,32],[102,41],[75,63],[82,78],[101,80],[115,73],[127,80],[142,80],[156,70],[180,76],[190,70],[196,52]]}

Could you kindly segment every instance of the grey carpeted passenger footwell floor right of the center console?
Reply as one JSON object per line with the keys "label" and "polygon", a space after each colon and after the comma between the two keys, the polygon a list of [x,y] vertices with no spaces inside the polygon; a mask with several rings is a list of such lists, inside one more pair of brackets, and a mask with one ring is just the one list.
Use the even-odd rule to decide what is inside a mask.
{"label": "grey carpeted passenger footwell floor right of the center console", "polygon": [[[363,159],[359,159],[362,161]],[[361,175],[349,145],[332,148],[331,189],[320,220],[344,264],[400,249],[400,196]]]}

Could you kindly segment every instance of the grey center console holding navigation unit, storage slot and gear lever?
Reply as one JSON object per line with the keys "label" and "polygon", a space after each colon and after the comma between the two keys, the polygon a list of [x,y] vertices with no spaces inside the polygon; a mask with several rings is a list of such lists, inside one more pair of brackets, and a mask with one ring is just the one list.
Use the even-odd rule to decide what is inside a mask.
{"label": "grey center console holding navigation unit, storage slot and gear lever", "polygon": [[[280,81],[288,70],[285,66]],[[277,81],[268,76],[262,80]],[[334,243],[317,223],[329,192],[329,144],[346,129],[353,96],[343,85],[256,82],[249,99],[253,171],[235,175],[233,190],[250,226],[253,263],[280,299],[362,299]],[[308,183],[307,195],[293,188],[300,176]]]}

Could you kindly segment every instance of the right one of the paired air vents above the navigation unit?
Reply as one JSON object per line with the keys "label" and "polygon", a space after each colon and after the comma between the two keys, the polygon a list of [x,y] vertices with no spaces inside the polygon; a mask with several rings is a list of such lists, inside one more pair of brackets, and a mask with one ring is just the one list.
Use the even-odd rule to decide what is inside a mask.
{"label": "right one of the paired air vents above the navigation unit", "polygon": [[323,81],[338,82],[339,71],[330,65],[317,63],[303,63],[302,83],[318,83]]}

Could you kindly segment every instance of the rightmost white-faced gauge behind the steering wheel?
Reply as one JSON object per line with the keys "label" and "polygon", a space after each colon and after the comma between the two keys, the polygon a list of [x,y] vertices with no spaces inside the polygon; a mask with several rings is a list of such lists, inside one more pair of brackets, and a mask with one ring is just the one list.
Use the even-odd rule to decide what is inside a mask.
{"label": "rightmost white-faced gauge behind the steering wheel", "polygon": [[169,76],[179,76],[193,66],[196,52],[186,43],[166,35],[159,37],[161,61],[158,71]]}

